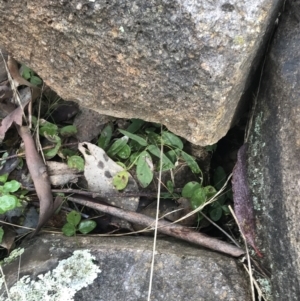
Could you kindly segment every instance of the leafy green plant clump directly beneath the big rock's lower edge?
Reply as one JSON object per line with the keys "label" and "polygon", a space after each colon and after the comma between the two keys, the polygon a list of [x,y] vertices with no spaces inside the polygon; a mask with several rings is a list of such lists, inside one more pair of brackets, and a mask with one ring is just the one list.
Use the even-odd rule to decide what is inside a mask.
{"label": "leafy green plant clump directly beneath the big rock's lower edge", "polygon": [[[137,179],[142,187],[147,187],[153,180],[154,171],[159,169],[161,150],[162,171],[175,168],[179,159],[186,162],[191,171],[200,174],[196,160],[183,150],[183,141],[175,134],[161,130],[161,126],[146,123],[140,119],[132,119],[126,130],[118,129],[123,136],[112,141],[114,129],[108,124],[98,139],[98,146],[106,150],[107,155],[116,161],[121,160],[126,171],[135,167]],[[126,185],[126,176],[117,174],[114,178],[115,187],[119,190]],[[121,183],[120,183],[121,182]]]}

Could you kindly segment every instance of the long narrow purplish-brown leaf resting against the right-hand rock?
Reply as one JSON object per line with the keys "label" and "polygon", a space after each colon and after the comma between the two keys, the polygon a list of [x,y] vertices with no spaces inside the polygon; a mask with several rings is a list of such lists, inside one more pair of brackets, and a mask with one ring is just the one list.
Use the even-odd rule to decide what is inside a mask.
{"label": "long narrow purplish-brown leaf resting against the right-hand rock", "polygon": [[238,151],[237,162],[232,172],[234,212],[241,230],[257,255],[262,254],[255,245],[255,219],[250,189],[247,182],[247,144]]}

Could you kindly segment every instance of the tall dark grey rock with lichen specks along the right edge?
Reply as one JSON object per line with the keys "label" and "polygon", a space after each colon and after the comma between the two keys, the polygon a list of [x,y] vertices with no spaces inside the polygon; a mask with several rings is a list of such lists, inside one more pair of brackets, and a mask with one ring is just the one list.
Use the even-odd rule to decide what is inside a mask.
{"label": "tall dark grey rock with lichen specks along the right edge", "polygon": [[300,295],[300,27],[285,15],[266,62],[250,135],[248,177],[273,300]]}

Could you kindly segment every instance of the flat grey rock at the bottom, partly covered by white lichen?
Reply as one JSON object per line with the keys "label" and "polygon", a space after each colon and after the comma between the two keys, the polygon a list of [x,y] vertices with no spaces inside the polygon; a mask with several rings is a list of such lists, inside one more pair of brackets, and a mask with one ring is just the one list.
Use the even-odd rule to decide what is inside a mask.
{"label": "flat grey rock at the bottom, partly covered by white lichen", "polygon": [[[79,290],[74,300],[146,300],[152,244],[153,239],[146,237],[68,238],[43,235],[28,242],[25,247],[19,278],[31,275],[31,279],[36,279],[39,274],[48,271],[54,274],[58,262],[72,257],[74,250],[87,249],[95,257],[93,263],[97,266],[90,263],[87,273],[91,278],[90,271],[93,275],[97,272],[97,278],[91,278],[94,279],[92,283]],[[18,277],[18,265],[17,259],[3,267],[8,287]],[[81,262],[73,268],[71,277],[77,274],[76,270],[82,274],[86,266]],[[69,272],[64,270],[63,273],[67,275]],[[61,277],[59,281],[66,280]],[[3,292],[2,288],[0,296]],[[159,239],[151,300],[247,301],[250,295],[247,276],[236,260],[175,240]]]}

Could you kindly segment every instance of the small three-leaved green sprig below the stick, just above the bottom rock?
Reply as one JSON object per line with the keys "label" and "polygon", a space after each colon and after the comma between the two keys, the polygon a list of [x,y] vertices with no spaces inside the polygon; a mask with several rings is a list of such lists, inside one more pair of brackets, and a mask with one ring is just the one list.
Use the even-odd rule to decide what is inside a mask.
{"label": "small three-leaved green sprig below the stick, just above the bottom rock", "polygon": [[81,215],[77,211],[71,211],[67,214],[67,223],[63,226],[62,232],[66,236],[74,236],[77,231],[82,234],[88,234],[96,228],[97,224],[92,220],[81,221]]}

